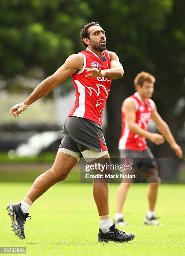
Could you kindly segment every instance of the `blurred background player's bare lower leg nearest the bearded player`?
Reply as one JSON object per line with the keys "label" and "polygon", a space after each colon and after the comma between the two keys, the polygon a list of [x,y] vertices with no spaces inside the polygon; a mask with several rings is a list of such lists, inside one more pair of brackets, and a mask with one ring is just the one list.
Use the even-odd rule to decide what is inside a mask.
{"label": "blurred background player's bare lower leg nearest the bearded player", "polygon": [[116,200],[116,213],[122,213],[122,207],[124,205],[128,188],[130,183],[121,183],[117,189],[117,200]]}

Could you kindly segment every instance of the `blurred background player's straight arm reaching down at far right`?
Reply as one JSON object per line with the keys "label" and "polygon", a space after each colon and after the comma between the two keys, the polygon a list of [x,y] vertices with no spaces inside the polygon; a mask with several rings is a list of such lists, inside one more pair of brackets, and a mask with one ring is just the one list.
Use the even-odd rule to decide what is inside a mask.
{"label": "blurred background player's straight arm reaching down at far right", "polygon": [[163,134],[164,138],[169,143],[170,147],[175,151],[176,156],[182,158],[183,151],[180,148],[180,146],[177,144],[177,142],[175,141],[175,138],[173,137],[168,124],[159,115],[155,103],[154,103],[154,110],[151,115],[151,119],[157,126],[160,133]]}

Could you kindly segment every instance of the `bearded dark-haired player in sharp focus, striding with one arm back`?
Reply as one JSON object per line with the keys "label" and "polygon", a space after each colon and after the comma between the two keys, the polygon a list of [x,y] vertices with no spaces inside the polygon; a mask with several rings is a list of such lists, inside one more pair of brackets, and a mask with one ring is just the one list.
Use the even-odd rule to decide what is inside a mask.
{"label": "bearded dark-haired player in sharp focus, striding with one arm back", "polygon": [[[81,156],[87,162],[94,159],[109,159],[102,133],[102,115],[110,91],[112,79],[123,76],[123,68],[117,55],[106,50],[105,31],[97,22],[91,22],[80,32],[84,51],[69,56],[65,63],[50,77],[41,82],[22,103],[11,108],[10,115],[16,118],[33,102],[45,96],[67,77],[72,76],[75,87],[75,104],[65,120],[63,139],[51,169],[41,174],[25,198],[16,204],[7,205],[15,234],[25,238],[24,223],[32,203],[47,189],[64,180]],[[108,183],[95,182],[93,195],[100,216],[98,241],[130,241],[133,233],[115,228],[109,216]]]}

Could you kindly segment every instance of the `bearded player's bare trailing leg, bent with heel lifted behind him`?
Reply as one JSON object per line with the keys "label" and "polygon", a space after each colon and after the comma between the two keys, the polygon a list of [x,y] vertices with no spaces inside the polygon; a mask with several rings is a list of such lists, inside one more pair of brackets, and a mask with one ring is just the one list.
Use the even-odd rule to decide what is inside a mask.
{"label": "bearded player's bare trailing leg, bent with heel lifted behind him", "polygon": [[25,201],[28,202],[30,199],[31,202],[34,202],[52,185],[64,180],[76,163],[77,159],[75,157],[58,152],[51,169],[35,179],[35,182],[32,184],[32,187],[25,197]]}

